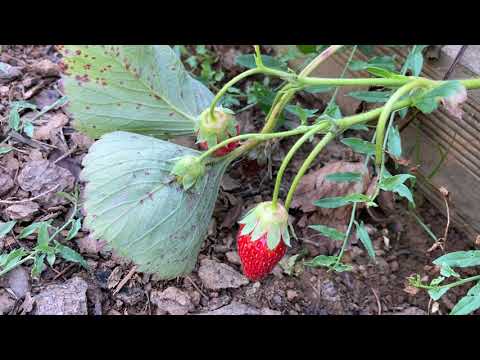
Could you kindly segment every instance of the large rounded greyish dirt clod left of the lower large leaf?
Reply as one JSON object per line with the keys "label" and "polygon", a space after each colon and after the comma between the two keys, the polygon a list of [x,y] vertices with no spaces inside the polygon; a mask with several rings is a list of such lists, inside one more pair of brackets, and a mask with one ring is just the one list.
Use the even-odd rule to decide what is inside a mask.
{"label": "large rounded greyish dirt clod left of the lower large leaf", "polygon": [[67,199],[56,193],[73,190],[75,178],[68,170],[48,160],[38,160],[30,161],[24,166],[18,175],[18,184],[33,196],[55,189],[38,199],[45,207],[52,207],[68,203]]}

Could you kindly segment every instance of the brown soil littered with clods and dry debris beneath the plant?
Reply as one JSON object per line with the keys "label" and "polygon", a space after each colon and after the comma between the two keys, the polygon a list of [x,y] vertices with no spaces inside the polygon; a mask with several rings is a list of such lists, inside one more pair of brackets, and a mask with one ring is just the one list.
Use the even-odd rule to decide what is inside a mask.
{"label": "brown soil littered with clods and dry debris beneath the plant", "polygon": [[[241,71],[232,56],[251,52],[247,46],[213,45],[209,48],[218,54],[215,66],[222,67],[225,79]],[[43,107],[61,97],[56,65],[59,59],[60,55],[52,45],[4,46],[0,62],[17,67],[20,73],[0,85],[0,140],[5,141],[7,137],[12,101],[25,100]],[[242,87],[248,86],[250,81],[247,80]],[[312,95],[298,96],[296,101],[319,109],[325,106]],[[23,116],[28,117],[28,113]],[[83,191],[83,184],[79,182],[81,160],[92,141],[77,133],[72,127],[72,119],[63,119],[65,116],[69,115],[60,108],[41,117],[35,123],[39,128],[35,133],[37,140],[35,136],[32,140],[10,132],[5,143],[15,150],[0,155],[2,200],[33,198],[50,188],[50,183],[59,184],[62,191],[70,191],[74,185]],[[242,132],[261,128],[265,117],[257,108],[247,109],[238,116]],[[295,266],[292,269],[279,265],[259,283],[251,283],[241,275],[235,244],[236,221],[254,204],[270,199],[274,176],[292,141],[269,142],[257,149],[255,156],[231,166],[223,180],[197,267],[190,276],[161,281],[155,275],[138,273],[128,260],[93,241],[82,229],[68,246],[83,255],[89,270],[57,259],[37,280],[30,278],[31,263],[27,262],[20,268],[22,270],[17,270],[22,274],[0,279],[0,314],[327,315],[427,314],[432,310],[435,314],[448,313],[465,294],[465,287],[453,289],[432,307],[434,304],[424,291],[414,291],[407,286],[407,278],[412,274],[420,274],[425,281],[437,277],[438,269],[431,265],[432,260],[445,250],[472,249],[472,239],[451,227],[446,249],[429,252],[432,239],[410,215],[403,201],[388,196],[382,198],[380,209],[375,212],[361,209],[358,213],[358,219],[365,223],[373,240],[376,262],[371,261],[362,245],[353,239],[344,258],[353,266],[351,272],[333,273],[321,268]],[[306,145],[295,156],[286,173],[281,196],[286,195],[293,175],[312,146]],[[361,160],[336,142],[322,152],[312,172],[338,161]],[[36,187],[25,185],[28,174],[35,179],[31,179],[31,186]],[[416,200],[416,211],[423,222],[434,234],[442,236],[446,226],[444,210],[435,209],[422,199],[421,194],[416,194]],[[52,196],[21,204],[23,207],[17,204],[14,209],[9,209],[11,205],[0,204],[1,221],[10,221],[15,216],[19,219],[13,231],[15,236],[0,239],[0,252],[19,245],[32,248],[34,238],[17,239],[25,226],[47,219],[52,219],[54,225],[61,225],[71,211],[71,205]],[[312,258],[338,251],[338,245],[308,228],[321,219],[330,219],[330,226],[345,226],[342,216],[332,217],[315,210],[304,212],[301,207],[291,211],[297,239],[293,239],[287,256],[302,253],[306,258]],[[12,291],[12,288],[20,290]],[[48,300],[56,296],[66,300]],[[74,299],[69,302],[68,296]]]}

